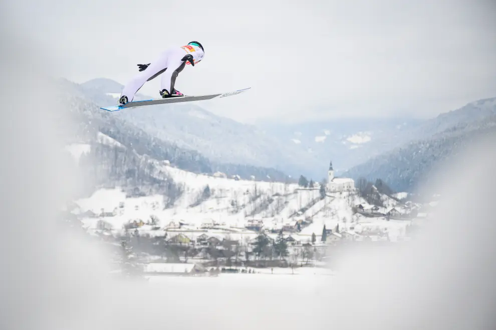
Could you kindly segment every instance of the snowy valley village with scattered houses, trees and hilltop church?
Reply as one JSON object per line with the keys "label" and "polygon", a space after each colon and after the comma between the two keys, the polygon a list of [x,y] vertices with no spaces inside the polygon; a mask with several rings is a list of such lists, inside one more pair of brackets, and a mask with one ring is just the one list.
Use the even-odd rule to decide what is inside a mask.
{"label": "snowy valley village with scattered houses, trees and hilltop church", "polygon": [[[332,163],[326,186],[294,184],[285,186],[285,193],[269,182],[208,179],[230,184],[227,189],[236,196],[251,185],[258,201],[263,203],[266,194],[272,199],[269,204],[276,205],[278,214],[268,216],[275,213],[270,209],[248,213],[249,207],[262,209],[246,202],[254,199],[250,187],[242,195],[245,201],[243,197],[227,205],[213,201],[220,199],[215,198],[215,191],[220,189],[219,183],[216,186],[211,182],[208,186],[215,187],[209,188],[213,196],[179,210],[164,207],[161,196],[127,198],[113,189],[97,196],[98,200],[104,197],[111,208],[105,205],[98,212],[92,200],[85,200],[72,214],[88,233],[117,248],[129,273],[218,276],[299,274],[311,269],[332,274],[333,258],[347,246],[373,248],[408,242],[437,204],[401,202],[401,196],[382,194],[375,186],[372,192],[380,202],[370,204],[355,188],[353,179],[334,176]],[[235,189],[239,184],[242,186]],[[88,207],[90,204],[92,207]]]}

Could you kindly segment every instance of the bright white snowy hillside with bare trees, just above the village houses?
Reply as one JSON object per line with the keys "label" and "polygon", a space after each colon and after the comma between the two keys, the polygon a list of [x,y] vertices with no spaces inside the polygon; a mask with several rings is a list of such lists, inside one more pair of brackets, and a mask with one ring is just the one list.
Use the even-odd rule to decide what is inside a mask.
{"label": "bright white snowy hillside with bare trees, just above the village houses", "polygon": [[[96,228],[99,220],[104,220],[113,229],[122,231],[125,223],[134,220],[147,223],[153,215],[158,218],[155,230],[151,225],[144,225],[140,231],[163,235],[167,229],[190,238],[204,232],[222,238],[227,233],[232,239],[247,240],[257,235],[244,228],[250,222],[263,223],[265,229],[280,230],[296,220],[306,220],[311,223],[302,226],[302,231],[295,235],[308,241],[312,233],[320,237],[324,225],[333,229],[339,223],[340,228],[346,229],[360,221],[361,216],[354,215],[352,207],[365,202],[354,192],[328,194],[322,199],[319,189],[301,188],[293,183],[195,174],[153,159],[149,161],[155,166],[153,175],[157,179],[172,178],[182,190],[180,196],[170,203],[162,194],[129,197],[119,187],[102,188],[76,203],[82,212],[114,214],[87,217],[86,226]],[[180,229],[179,223],[182,223]]]}

